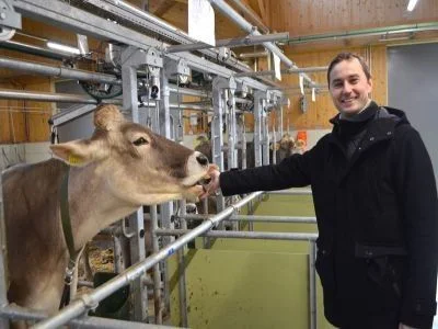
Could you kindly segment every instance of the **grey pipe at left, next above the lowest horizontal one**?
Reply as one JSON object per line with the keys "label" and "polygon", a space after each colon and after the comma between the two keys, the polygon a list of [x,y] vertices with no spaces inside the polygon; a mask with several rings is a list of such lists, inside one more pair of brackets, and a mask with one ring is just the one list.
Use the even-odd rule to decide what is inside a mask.
{"label": "grey pipe at left, next above the lowest horizontal one", "polygon": [[32,73],[51,77],[105,82],[111,84],[122,84],[122,81],[119,79],[111,75],[95,73],[85,70],[70,69],[66,67],[55,67],[46,64],[18,60],[9,57],[0,57],[0,67],[13,70],[24,70]]}

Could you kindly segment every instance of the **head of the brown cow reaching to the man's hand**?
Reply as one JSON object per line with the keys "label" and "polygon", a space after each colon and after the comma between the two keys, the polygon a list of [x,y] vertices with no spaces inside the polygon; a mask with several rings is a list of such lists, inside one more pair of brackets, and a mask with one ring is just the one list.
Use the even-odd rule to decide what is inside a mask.
{"label": "head of the brown cow reaching to the man's hand", "polygon": [[203,192],[198,182],[209,167],[203,154],[126,121],[115,105],[99,106],[94,125],[90,139],[50,148],[70,166],[89,166],[113,195],[141,205],[194,200]]}

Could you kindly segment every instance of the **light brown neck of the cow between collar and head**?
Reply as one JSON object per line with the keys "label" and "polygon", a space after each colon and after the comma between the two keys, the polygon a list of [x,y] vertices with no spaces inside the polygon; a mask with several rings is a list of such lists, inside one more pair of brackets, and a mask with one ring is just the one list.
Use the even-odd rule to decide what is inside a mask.
{"label": "light brown neck of the cow between collar and head", "polygon": [[70,169],[69,206],[77,250],[103,228],[138,208],[117,197],[107,182],[99,164]]}

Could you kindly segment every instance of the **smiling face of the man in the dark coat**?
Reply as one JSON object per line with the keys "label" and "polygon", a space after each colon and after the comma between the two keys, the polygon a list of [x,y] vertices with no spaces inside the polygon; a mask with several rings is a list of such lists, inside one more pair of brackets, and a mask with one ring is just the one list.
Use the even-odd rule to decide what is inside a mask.
{"label": "smiling face of the man in the dark coat", "polygon": [[337,111],[345,116],[359,113],[368,103],[372,90],[357,58],[336,64],[330,72],[330,93]]}

